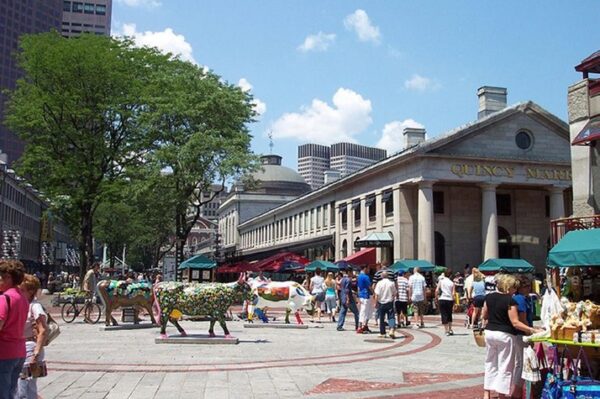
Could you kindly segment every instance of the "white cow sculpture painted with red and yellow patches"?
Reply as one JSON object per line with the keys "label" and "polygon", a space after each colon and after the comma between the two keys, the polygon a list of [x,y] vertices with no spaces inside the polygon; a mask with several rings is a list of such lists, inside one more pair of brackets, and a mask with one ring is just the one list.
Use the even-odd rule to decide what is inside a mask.
{"label": "white cow sculpture painted with red and yellow patches", "polygon": [[[315,310],[314,297],[295,281],[273,281],[254,286],[251,303],[255,309],[261,311],[260,313],[266,307],[285,306],[286,324],[290,323],[290,313],[294,313],[298,324],[304,324],[300,317],[300,310],[305,309],[308,314],[312,314]],[[249,320],[252,320],[252,314],[249,314],[248,317]]]}

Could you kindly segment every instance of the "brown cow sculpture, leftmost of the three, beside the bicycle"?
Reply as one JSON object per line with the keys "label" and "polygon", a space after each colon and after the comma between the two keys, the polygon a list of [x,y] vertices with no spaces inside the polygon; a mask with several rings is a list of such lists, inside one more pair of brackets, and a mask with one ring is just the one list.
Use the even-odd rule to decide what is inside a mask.
{"label": "brown cow sculpture, leftmost of the three, beside the bicycle", "polygon": [[152,324],[157,324],[152,312],[152,284],[150,283],[130,283],[120,280],[103,280],[96,286],[100,293],[100,298],[104,302],[106,313],[106,325],[118,325],[112,312],[122,306],[138,306],[146,309]]}

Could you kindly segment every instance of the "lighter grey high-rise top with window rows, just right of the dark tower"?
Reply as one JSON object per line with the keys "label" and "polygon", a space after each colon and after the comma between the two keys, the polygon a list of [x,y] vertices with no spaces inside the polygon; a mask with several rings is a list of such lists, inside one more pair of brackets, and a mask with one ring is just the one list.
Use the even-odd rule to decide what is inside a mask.
{"label": "lighter grey high-rise top with window rows, just right of the dark tower", "polygon": [[63,1],[62,35],[110,35],[112,0]]}

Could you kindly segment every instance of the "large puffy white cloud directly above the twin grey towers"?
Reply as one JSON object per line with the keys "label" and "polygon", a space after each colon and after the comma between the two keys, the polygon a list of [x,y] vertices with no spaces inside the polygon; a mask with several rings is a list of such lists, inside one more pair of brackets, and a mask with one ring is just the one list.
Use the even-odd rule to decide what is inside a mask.
{"label": "large puffy white cloud directly above the twin grey towers", "polygon": [[333,95],[333,106],[315,98],[300,112],[282,115],[270,130],[275,138],[320,144],[356,142],[354,136],[372,122],[371,110],[370,100],[350,89],[339,88]]}

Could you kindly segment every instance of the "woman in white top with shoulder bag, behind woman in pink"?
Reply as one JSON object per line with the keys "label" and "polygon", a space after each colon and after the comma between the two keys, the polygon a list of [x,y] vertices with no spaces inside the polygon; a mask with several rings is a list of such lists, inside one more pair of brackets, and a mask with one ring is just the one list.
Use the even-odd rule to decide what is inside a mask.
{"label": "woman in white top with shoulder bag, behind woman in pink", "polygon": [[37,277],[26,274],[19,288],[29,300],[29,313],[23,331],[27,357],[19,379],[17,398],[37,399],[37,376],[45,375],[46,370],[44,342],[48,335],[47,315],[42,305],[35,299],[40,289],[40,280]]}

